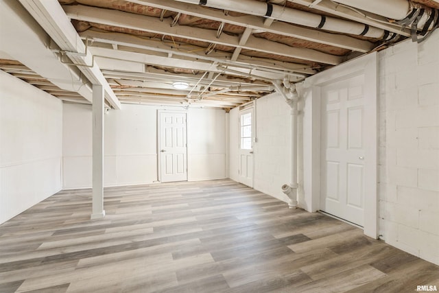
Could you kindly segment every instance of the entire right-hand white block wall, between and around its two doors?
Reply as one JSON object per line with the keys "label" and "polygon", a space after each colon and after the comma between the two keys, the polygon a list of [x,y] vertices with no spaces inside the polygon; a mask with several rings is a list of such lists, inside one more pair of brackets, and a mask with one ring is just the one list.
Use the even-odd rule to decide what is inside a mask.
{"label": "entire right-hand white block wall, between and around its two doors", "polygon": [[[424,43],[403,43],[379,52],[379,234],[388,244],[439,264],[439,30]],[[337,73],[335,67],[335,73]],[[305,179],[320,172],[320,100],[305,91],[301,102]],[[254,188],[281,200],[287,182],[289,108],[281,97],[258,99]],[[230,178],[239,180],[239,109],[230,111]],[[317,117],[314,119],[314,117]],[[287,141],[289,141],[287,139]],[[285,161],[280,158],[284,158]],[[300,159],[300,158],[299,158]],[[276,169],[279,168],[279,171]],[[317,172],[317,173],[316,173]],[[299,205],[318,210],[320,189],[300,178]],[[302,192],[305,189],[305,194]]]}

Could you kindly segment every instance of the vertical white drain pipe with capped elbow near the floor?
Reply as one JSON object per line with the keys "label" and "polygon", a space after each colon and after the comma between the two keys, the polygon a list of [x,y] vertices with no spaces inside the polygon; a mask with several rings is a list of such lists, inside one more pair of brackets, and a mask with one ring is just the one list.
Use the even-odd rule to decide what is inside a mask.
{"label": "vertical white drain pipe with capped elbow near the floor", "polygon": [[[289,198],[289,209],[297,209],[297,132],[298,132],[298,93],[296,86],[289,82],[288,78],[284,78],[283,82],[274,80],[274,88],[284,98],[285,102],[291,107],[291,178],[290,183],[282,185],[282,191]],[[282,85],[283,84],[283,85]]]}

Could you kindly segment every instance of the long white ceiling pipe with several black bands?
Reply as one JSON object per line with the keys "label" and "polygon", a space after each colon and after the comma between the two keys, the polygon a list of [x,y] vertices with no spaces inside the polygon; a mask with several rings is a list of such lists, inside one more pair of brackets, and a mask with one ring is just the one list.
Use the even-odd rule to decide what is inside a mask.
{"label": "long white ceiling pipe with several black bands", "polygon": [[[200,3],[200,0],[176,1],[191,4]],[[244,14],[266,16],[270,19],[285,21],[287,23],[295,23],[297,25],[305,25],[307,27],[319,27],[320,23],[323,22],[322,16],[318,14],[254,0],[206,0],[205,5],[211,8],[230,10],[235,12],[241,12]],[[270,12],[269,10],[272,11]],[[268,16],[268,14],[270,15]],[[344,34],[360,35],[365,31],[366,25],[326,16],[324,17],[324,23],[320,26],[320,28],[322,30],[330,30],[333,32],[341,32]],[[381,30],[377,27],[368,27],[368,31],[366,32],[366,34],[364,34],[364,36],[372,38],[382,38],[384,36],[384,30]]]}

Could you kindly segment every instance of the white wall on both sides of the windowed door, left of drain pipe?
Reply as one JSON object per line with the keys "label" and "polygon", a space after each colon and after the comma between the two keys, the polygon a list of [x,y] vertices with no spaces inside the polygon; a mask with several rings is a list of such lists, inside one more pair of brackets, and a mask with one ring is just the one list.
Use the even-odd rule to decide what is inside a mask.
{"label": "white wall on both sides of the windowed door, left of drain pipe", "polygon": [[[277,93],[257,100],[253,143],[253,188],[288,201],[281,186],[290,183],[290,108]],[[230,110],[230,179],[239,181],[239,108]]]}

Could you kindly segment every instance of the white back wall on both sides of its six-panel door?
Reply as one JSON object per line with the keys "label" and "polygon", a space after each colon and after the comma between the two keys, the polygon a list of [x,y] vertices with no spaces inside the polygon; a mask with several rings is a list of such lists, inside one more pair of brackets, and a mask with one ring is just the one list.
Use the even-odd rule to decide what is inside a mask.
{"label": "white back wall on both sides of its six-panel door", "polygon": [[[63,187],[91,187],[91,106],[64,104],[63,109]],[[104,186],[157,180],[158,109],[163,107],[123,104],[104,115]],[[189,180],[225,178],[225,115],[189,109]]]}

